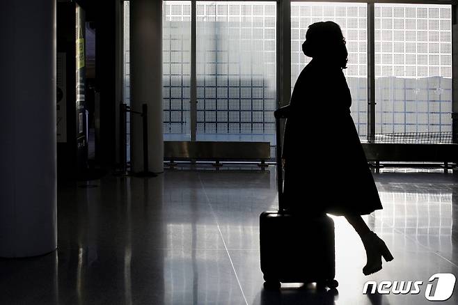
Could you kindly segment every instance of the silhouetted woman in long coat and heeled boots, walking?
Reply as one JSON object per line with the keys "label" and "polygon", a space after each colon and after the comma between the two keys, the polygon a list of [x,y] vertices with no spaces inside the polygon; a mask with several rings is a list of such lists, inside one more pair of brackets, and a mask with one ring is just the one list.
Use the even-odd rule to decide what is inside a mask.
{"label": "silhouetted woman in long coat and heeled boots, walking", "polygon": [[382,206],[350,115],[352,97],[342,72],[345,38],[338,24],[317,22],[308,27],[302,49],[313,59],[299,75],[290,104],[278,110],[287,116],[285,202],[292,212],[345,216],[365,247],[363,273],[372,274],[381,269],[382,256],[393,256],[361,218]]}

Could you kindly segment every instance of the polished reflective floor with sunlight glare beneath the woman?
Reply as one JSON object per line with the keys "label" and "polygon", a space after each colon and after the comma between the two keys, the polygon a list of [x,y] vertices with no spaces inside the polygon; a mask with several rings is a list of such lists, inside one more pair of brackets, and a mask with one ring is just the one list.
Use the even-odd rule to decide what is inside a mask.
{"label": "polished reflective floor with sunlight glare beneath the woman", "polygon": [[[458,173],[381,169],[374,178],[384,210],[365,221],[395,260],[364,276],[361,240],[343,217],[333,217],[338,291],[313,284],[264,290],[259,214],[277,205],[275,176],[274,166],[201,165],[157,178],[63,183],[58,250],[0,259],[0,304],[418,305],[431,303],[425,298],[430,276],[458,276]],[[329,177],[338,183],[351,175],[335,169]],[[306,246],[301,232],[292,234]],[[423,285],[417,295],[363,295],[366,281]],[[458,304],[458,288],[436,304]]]}

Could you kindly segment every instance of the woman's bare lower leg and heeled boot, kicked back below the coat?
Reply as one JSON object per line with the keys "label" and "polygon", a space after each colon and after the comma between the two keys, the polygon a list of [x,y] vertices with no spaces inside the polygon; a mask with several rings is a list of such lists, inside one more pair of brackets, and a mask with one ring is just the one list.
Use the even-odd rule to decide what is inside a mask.
{"label": "woman's bare lower leg and heeled boot, kicked back below the coat", "polygon": [[349,214],[345,215],[345,218],[353,226],[361,237],[368,263],[363,267],[363,274],[368,275],[377,272],[381,269],[381,257],[383,256],[387,262],[393,260],[393,256],[386,247],[386,244],[380,237],[370,230],[367,224],[365,224],[361,215]]}

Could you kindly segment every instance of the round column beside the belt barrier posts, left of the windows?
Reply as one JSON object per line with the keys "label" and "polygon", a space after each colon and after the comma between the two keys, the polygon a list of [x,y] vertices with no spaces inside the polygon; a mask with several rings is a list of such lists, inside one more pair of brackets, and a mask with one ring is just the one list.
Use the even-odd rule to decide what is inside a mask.
{"label": "round column beside the belt barrier posts, left of the windows", "polygon": [[[162,1],[130,1],[131,107],[148,104],[149,171],[164,171],[162,127]],[[141,116],[131,116],[132,170],[143,171]]]}

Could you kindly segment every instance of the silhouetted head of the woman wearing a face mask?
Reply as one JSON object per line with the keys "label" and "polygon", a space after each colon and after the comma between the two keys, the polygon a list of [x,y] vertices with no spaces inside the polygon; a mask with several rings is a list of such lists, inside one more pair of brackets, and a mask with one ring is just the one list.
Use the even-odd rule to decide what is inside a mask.
{"label": "silhouetted head of the woman wearing a face mask", "polygon": [[324,59],[326,63],[335,63],[342,69],[347,68],[345,38],[335,22],[316,22],[308,26],[302,51],[306,56]]}

